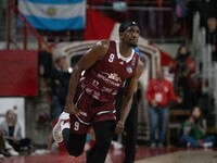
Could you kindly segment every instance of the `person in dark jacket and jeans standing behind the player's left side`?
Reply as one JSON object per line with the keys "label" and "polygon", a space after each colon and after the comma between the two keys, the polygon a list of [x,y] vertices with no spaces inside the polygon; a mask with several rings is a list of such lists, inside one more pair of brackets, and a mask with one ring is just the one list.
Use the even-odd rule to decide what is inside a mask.
{"label": "person in dark jacket and jeans standing behind the player's left side", "polygon": [[55,59],[55,65],[51,75],[52,88],[52,118],[56,120],[62,113],[65,99],[67,96],[68,83],[71,73],[65,55],[60,55]]}

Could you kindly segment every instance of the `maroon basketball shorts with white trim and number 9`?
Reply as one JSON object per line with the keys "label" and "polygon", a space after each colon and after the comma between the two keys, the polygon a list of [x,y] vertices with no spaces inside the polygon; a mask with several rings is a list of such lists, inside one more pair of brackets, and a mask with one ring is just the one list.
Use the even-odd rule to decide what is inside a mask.
{"label": "maroon basketball shorts with white trim and number 9", "polygon": [[71,130],[75,134],[87,134],[95,122],[116,120],[114,102],[101,102],[78,90],[75,103],[79,112],[79,115],[71,115]]}

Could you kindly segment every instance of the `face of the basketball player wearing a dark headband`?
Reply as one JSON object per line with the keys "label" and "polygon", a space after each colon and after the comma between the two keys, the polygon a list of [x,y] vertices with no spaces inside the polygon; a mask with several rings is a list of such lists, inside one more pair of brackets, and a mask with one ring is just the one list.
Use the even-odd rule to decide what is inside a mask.
{"label": "face of the basketball player wearing a dark headband", "polygon": [[122,40],[129,47],[137,47],[139,40],[139,27],[130,26],[124,33]]}

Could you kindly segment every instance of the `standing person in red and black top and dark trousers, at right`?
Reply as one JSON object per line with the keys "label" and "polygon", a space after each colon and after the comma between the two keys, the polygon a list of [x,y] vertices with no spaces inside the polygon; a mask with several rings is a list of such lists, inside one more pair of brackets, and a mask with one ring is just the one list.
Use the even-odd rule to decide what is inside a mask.
{"label": "standing person in red and black top and dark trousers, at right", "polygon": [[170,63],[169,72],[175,74],[175,92],[183,99],[179,108],[193,108],[196,104],[195,95],[192,90],[194,88],[192,74],[195,72],[195,63],[186,45],[179,47],[176,60]]}

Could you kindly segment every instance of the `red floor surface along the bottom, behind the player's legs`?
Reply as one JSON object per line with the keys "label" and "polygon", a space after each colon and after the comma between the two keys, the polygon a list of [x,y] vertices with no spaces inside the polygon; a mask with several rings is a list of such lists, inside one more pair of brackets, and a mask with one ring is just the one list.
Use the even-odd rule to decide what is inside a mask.
{"label": "red floor surface along the bottom, behind the player's legs", "polygon": [[[165,155],[168,153],[177,151],[188,151],[192,149],[186,148],[150,148],[145,146],[138,146],[136,160],[141,161],[144,159],[150,159],[156,155]],[[199,149],[200,151],[205,151],[205,149]],[[207,151],[217,151],[216,149],[206,149]],[[123,163],[124,150],[123,149],[110,149],[105,163]],[[0,159],[0,163],[85,163],[85,153],[78,158],[72,158],[65,152],[56,153],[43,153],[43,154],[30,154],[30,155],[20,155]],[[161,162],[163,163],[163,162]]]}

